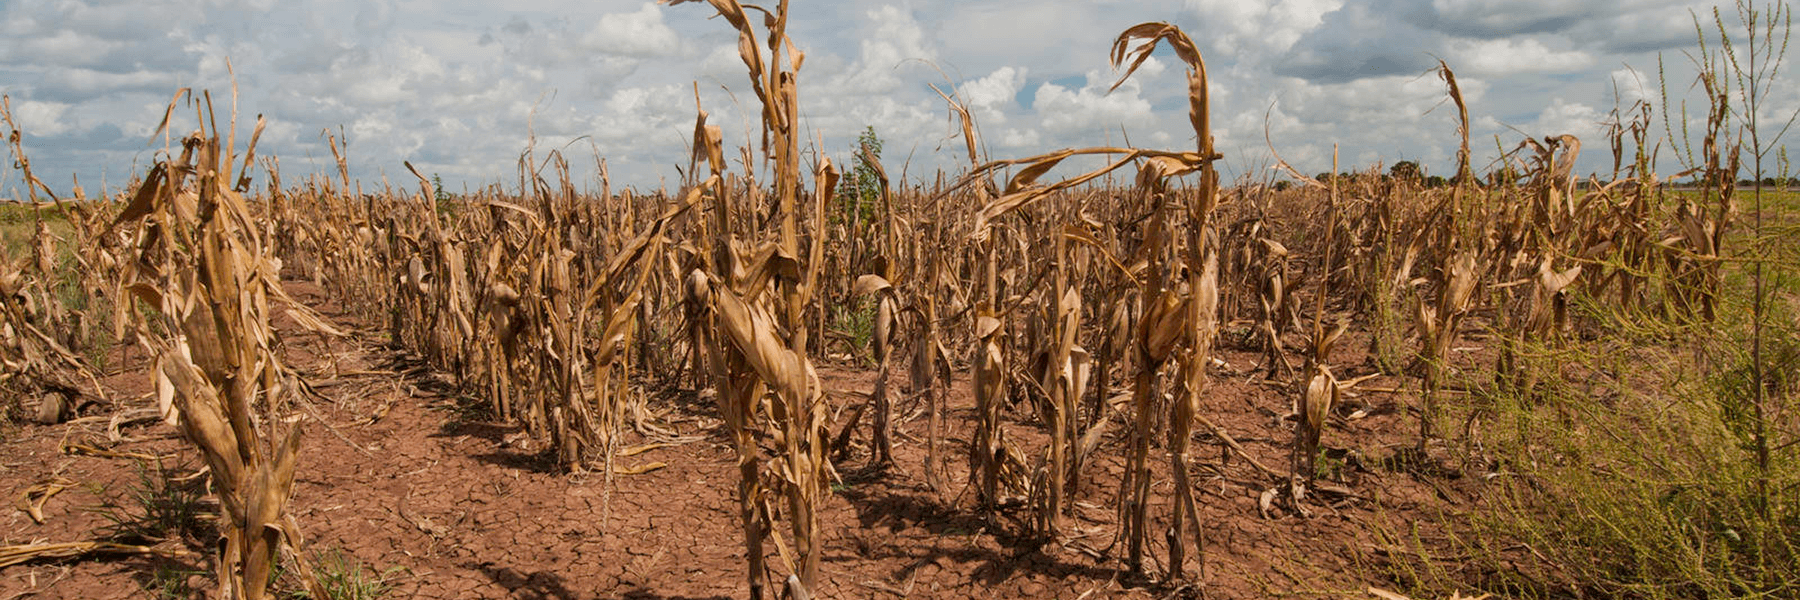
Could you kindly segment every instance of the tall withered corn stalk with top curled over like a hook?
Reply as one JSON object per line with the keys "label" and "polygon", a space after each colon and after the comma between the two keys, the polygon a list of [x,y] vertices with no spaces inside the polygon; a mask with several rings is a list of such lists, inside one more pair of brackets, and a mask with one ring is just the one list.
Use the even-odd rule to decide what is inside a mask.
{"label": "tall withered corn stalk with top curled over like a hook", "polygon": [[[1147,40],[1147,43],[1132,49],[1138,40]],[[1141,312],[1139,324],[1136,328],[1136,364],[1138,378],[1134,387],[1134,407],[1136,407],[1136,436],[1132,438],[1132,456],[1127,465],[1127,477],[1121,486],[1121,537],[1129,541],[1130,557],[1127,564],[1134,569],[1141,569],[1143,559],[1143,533],[1147,524],[1147,506],[1150,490],[1148,474],[1148,443],[1156,434],[1154,431],[1154,387],[1156,373],[1163,362],[1174,355],[1177,348],[1186,344],[1188,353],[1183,355],[1183,362],[1192,362],[1195,373],[1188,375],[1188,391],[1172,407],[1172,436],[1186,440],[1192,432],[1192,420],[1195,418],[1197,395],[1204,391],[1204,364],[1210,353],[1211,337],[1215,333],[1215,314],[1217,314],[1217,243],[1208,241],[1210,232],[1210,214],[1217,204],[1217,175],[1211,175],[1211,162],[1219,155],[1211,148],[1211,135],[1206,124],[1206,76],[1204,65],[1201,63],[1199,50],[1193,47],[1192,40],[1181,29],[1168,23],[1141,23],[1127,29],[1112,45],[1114,65],[1123,65],[1127,52],[1132,56],[1132,65],[1120,77],[1123,83],[1136,72],[1157,41],[1168,41],[1177,56],[1188,63],[1188,99],[1190,99],[1190,121],[1201,139],[1199,151],[1156,151],[1139,148],[1080,148],[1080,150],[1058,150],[1046,155],[1026,157],[1026,159],[1006,159],[992,160],[977,166],[970,173],[963,175],[952,189],[967,189],[976,182],[985,182],[986,177],[1001,168],[1024,166],[1006,182],[1006,187],[999,196],[985,200],[981,211],[976,213],[974,229],[970,232],[970,241],[974,247],[983,249],[986,254],[983,268],[985,297],[976,306],[976,402],[977,402],[977,431],[976,441],[972,443],[972,477],[979,477],[979,490],[985,503],[994,503],[999,494],[999,476],[1003,465],[1003,450],[997,436],[988,436],[990,431],[983,420],[988,418],[990,407],[983,405],[983,398],[999,398],[999,386],[1003,382],[1003,351],[999,346],[999,335],[1004,330],[1001,315],[1003,306],[997,303],[997,267],[994,261],[992,241],[995,240],[995,223],[1022,207],[1033,205],[1039,200],[1049,198],[1060,191],[1084,186],[1107,173],[1112,173],[1127,164],[1139,164],[1138,187],[1147,193],[1150,205],[1150,223],[1145,234],[1145,241],[1139,247],[1139,258],[1134,261],[1147,261],[1145,283],[1141,292],[1141,301],[1145,308]],[[1114,85],[1116,86],[1116,85]],[[967,123],[967,121],[965,121]],[[1064,178],[1055,184],[1039,184],[1037,180],[1057,168],[1062,160],[1076,155],[1107,155],[1109,162],[1094,171]],[[1190,205],[1190,220],[1193,229],[1190,231],[1190,243],[1193,245],[1188,254],[1190,263],[1190,281],[1186,281],[1186,290],[1181,286],[1170,286],[1165,283],[1163,258],[1172,250],[1166,241],[1168,211],[1165,205],[1170,202],[1166,178],[1202,173],[1202,182],[1210,182],[1213,187],[1202,184],[1202,195]],[[977,198],[985,198],[983,187],[974,187]],[[1089,243],[1093,247],[1102,247],[1100,243]],[[1130,270],[1130,268],[1127,268]],[[1186,294],[1184,294],[1186,292]],[[1058,292],[1060,297],[1060,292]],[[1193,305],[1190,305],[1193,303]],[[1069,344],[1073,346],[1073,342]],[[1201,357],[1201,359],[1195,359]],[[1067,364],[1067,362],[1064,362]],[[1066,411],[1066,409],[1064,409]],[[997,413],[997,411],[995,411]],[[1055,429],[1060,429],[1053,425]],[[1175,438],[1172,438],[1175,440]],[[1060,440],[1060,443],[1069,443],[1071,440]],[[1055,452],[1055,449],[1051,449]],[[1184,519],[1192,528],[1192,537],[1199,541],[1199,523],[1193,519],[1195,508],[1192,501],[1192,490],[1186,486],[1186,445],[1172,443],[1172,463],[1181,465],[1177,468],[1177,497],[1174,510],[1177,514],[1188,515]],[[1051,477],[1055,486],[1060,486],[1064,477]],[[1042,497],[1053,497],[1053,494],[1040,494]],[[1048,512],[1046,512],[1048,514]],[[1183,521],[1177,521],[1181,524]],[[1170,532],[1170,535],[1177,535]]]}

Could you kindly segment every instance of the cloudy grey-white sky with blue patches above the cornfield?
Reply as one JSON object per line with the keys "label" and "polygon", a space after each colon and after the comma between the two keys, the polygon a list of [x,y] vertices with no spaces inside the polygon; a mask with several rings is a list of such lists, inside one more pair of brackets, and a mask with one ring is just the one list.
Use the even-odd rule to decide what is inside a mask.
{"label": "cloudy grey-white sky with blue patches above the cornfield", "polygon": [[[1195,148],[1174,54],[1157,52],[1107,92],[1118,79],[1109,45],[1141,22],[1175,23],[1199,45],[1231,178],[1271,177],[1271,142],[1303,173],[1328,171],[1336,148],[1341,171],[1415,160],[1451,175],[1456,110],[1431,74],[1438,59],[1467,99],[1478,169],[1525,137],[1568,133],[1586,144],[1579,171],[1607,177],[1602,126],[1615,106],[1658,99],[1658,58],[1669,92],[1701,112],[1690,121],[1703,117],[1694,14],[1712,27],[1712,5],[794,0],[788,32],[806,52],[808,151],[844,164],[873,126],[889,173],[913,180],[968,164],[931,85],[970,106],[988,159]],[[1733,7],[1723,9],[1735,27]],[[288,184],[335,171],[331,132],[347,141],[364,186],[414,186],[410,160],[450,189],[515,189],[535,139],[538,159],[562,150],[578,186],[598,187],[605,159],[616,189],[675,187],[695,90],[727,148],[760,137],[747,128],[758,106],[736,32],[711,16],[704,2],[641,0],[0,0],[0,92],[38,178],[59,195],[77,180],[90,193],[117,189],[157,160],[153,132],[176,88],[211,90],[223,119],[232,72],[241,128],[268,119],[257,153],[279,157]],[[1796,81],[1784,72],[1771,83],[1764,121],[1800,106]],[[175,133],[193,126],[178,121]],[[0,173],[0,198],[22,195],[18,173]]]}

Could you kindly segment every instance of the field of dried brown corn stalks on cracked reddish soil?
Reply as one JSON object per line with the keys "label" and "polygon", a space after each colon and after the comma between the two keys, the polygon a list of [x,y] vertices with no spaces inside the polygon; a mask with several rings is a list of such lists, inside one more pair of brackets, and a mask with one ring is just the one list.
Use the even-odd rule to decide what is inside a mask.
{"label": "field of dried brown corn stalks on cracked reddish soil", "polygon": [[[194,132],[124,191],[40,202],[27,186],[32,254],[0,256],[0,409],[41,423],[5,434],[0,485],[31,524],[4,539],[0,591],[83,596],[135,577],[158,593],[344,596],[342,555],[317,548],[378,569],[356,589],[419,596],[1800,584],[1782,521],[1793,377],[1759,369],[1757,400],[1703,402],[1726,425],[1679,429],[1773,432],[1760,495],[1739,505],[1688,497],[1710,490],[1685,479],[1699,463],[1580,454],[1618,423],[1649,436],[1692,418],[1652,413],[1665,391],[1692,393],[1692,373],[1742,377],[1717,344],[1679,337],[1735,323],[1723,306],[1748,261],[1730,249],[1768,238],[1741,223],[1737,155],[1683,173],[1705,182],[1694,191],[1652,169],[1649,105],[1615,114],[1606,178],[1577,177],[1571,135],[1526,137],[1478,173],[1440,61],[1462,119],[1447,186],[1285,162],[1298,186],[1229,184],[1206,61],[1181,29],[1141,23],[1111,47],[1118,83],[1166,45],[1195,148],[994,159],[940,92],[967,169],[889,180],[864,146],[848,155],[877,175],[864,220],[862,198],[837,195],[850,168],[803,151],[787,2],[707,9],[740,36],[761,137],[729,141],[695,94],[677,189],[614,191],[605,162],[581,189],[571,157],[527,148],[515,184],[441,204],[410,164],[416,187],[364,189],[335,137],[335,173],[288,182],[256,155],[261,119],[239,150],[238,114],[185,90],[162,128],[193,112]],[[1051,177],[1066,162],[1098,168]],[[70,240],[43,225],[52,211]],[[58,267],[58,243],[79,258]],[[59,286],[94,303],[70,312]],[[1778,360],[1800,355],[1793,330],[1775,333]],[[49,456],[61,467],[20,463]],[[130,488],[124,459],[185,461],[203,490],[137,512],[65,501],[72,476],[95,495]],[[1665,505],[1697,506],[1679,535],[1724,548],[1699,564],[1760,568],[1679,587],[1692,573],[1665,555],[1557,548],[1604,539],[1543,528],[1586,499],[1562,485],[1579,477],[1557,479],[1571,465],[1661,481]],[[92,526],[171,508],[212,533]]]}

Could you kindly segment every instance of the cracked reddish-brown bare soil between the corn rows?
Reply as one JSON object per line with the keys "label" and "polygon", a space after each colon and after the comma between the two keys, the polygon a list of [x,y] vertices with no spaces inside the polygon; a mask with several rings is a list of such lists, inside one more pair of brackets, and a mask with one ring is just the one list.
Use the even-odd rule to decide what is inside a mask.
{"label": "cracked reddish-brown bare soil between the corn rows", "polygon": [[[304,283],[290,288],[338,324],[356,330],[335,303]],[[277,323],[279,324],[279,323]],[[292,510],[310,553],[342,553],[371,577],[385,577],[387,598],[743,598],[747,596],[742,528],[736,517],[734,452],[709,402],[693,391],[652,393],[650,405],[682,436],[677,443],[617,459],[617,470],[662,465],[641,474],[560,474],[515,425],[491,422],[459,400],[443,377],[380,342],[373,330],[324,341],[283,328],[286,360],[329,402],[313,402]],[[1224,368],[1202,414],[1229,432],[1262,465],[1287,472],[1291,393],[1262,380],[1258,353],[1224,351]],[[1341,344],[1341,378],[1370,373],[1361,341]],[[121,411],[151,407],[146,360],[115,353],[104,378],[115,405],[92,405],[63,425],[14,423],[0,447],[0,544],[95,539],[110,524],[106,503],[131,506],[144,458],[191,474],[198,454],[173,427],[126,422]],[[862,402],[875,373],[846,364],[821,377],[833,405]],[[895,386],[904,387],[896,373]],[[1114,393],[1125,391],[1123,378]],[[1075,519],[1057,541],[1024,537],[1028,515],[985,519],[967,481],[967,431],[974,423],[967,371],[949,396],[945,494],[923,485],[925,418],[907,404],[896,414],[896,468],[868,468],[855,452],[837,465],[842,483],[823,508],[826,555],[821,598],[1370,598],[1388,587],[1381,566],[1395,553],[1377,532],[1431,530],[1467,503],[1462,481],[1420,479],[1379,467],[1417,434],[1408,413],[1415,398],[1388,389],[1404,380],[1363,382],[1327,431],[1325,445],[1345,450],[1339,494],[1319,494],[1310,515],[1283,506],[1265,514],[1260,499],[1278,485],[1237,456],[1206,427],[1195,427],[1190,465],[1206,532],[1204,577],[1197,586],[1168,586],[1121,575],[1116,532],[1118,481],[1127,438],[1114,434],[1087,465],[1075,497]],[[1417,386],[1411,386],[1417,387]],[[1008,413],[1008,438],[1028,456],[1042,427],[1021,405]],[[859,440],[866,440],[860,438]],[[643,441],[634,441],[643,443]],[[83,454],[76,447],[99,449]],[[126,454],[137,454],[130,458]],[[1168,458],[1154,449],[1157,483],[1152,515],[1168,506]],[[63,477],[67,490],[43,505],[43,524],[14,508],[32,485]],[[1161,573],[1163,526],[1152,528],[1152,559]],[[180,548],[167,542],[164,548]],[[205,548],[185,557],[99,555],[34,560],[0,569],[0,600],[144,598],[166,582],[157,573],[187,575],[212,596]],[[774,548],[769,564],[778,566]],[[180,575],[175,577],[180,580]]]}

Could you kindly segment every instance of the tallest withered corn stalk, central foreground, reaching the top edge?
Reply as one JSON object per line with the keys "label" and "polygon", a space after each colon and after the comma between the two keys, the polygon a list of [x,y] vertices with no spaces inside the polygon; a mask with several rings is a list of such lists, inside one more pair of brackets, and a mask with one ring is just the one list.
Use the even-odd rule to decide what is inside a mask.
{"label": "tallest withered corn stalk, central foreground, reaching the top edge", "polygon": [[[684,4],[691,0],[666,0]],[[740,465],[745,481],[740,485],[740,503],[752,503],[760,492],[751,481],[756,474],[756,447],[743,431],[751,425],[756,405],[763,400],[767,386],[769,418],[776,440],[772,459],[774,492],[787,497],[788,523],[792,526],[792,553],[781,550],[788,571],[797,575],[803,589],[815,589],[819,575],[819,506],[826,494],[826,407],[817,375],[806,359],[808,326],[806,306],[812,301],[823,261],[823,213],[837,187],[837,169],[828,160],[821,160],[815,169],[815,193],[812,211],[801,207],[801,171],[799,171],[799,99],[797,70],[805,56],[794,49],[787,36],[788,5],[783,0],[776,11],[763,11],[767,45],[760,43],[758,31],[736,0],[709,0],[715,11],[738,29],[738,54],[751,76],[751,88],[761,101],[763,155],[774,168],[774,209],[779,218],[779,238],[774,243],[740,241],[738,231],[731,225],[736,218],[734,207],[724,200],[729,191],[715,191],[718,211],[718,232],[715,232],[715,263],[711,285],[697,286],[711,303],[713,326],[718,339],[713,341],[711,360],[715,384],[720,387],[720,402],[736,431]],[[787,52],[783,56],[783,52]],[[697,133],[706,141],[707,160],[715,173],[724,169],[720,144],[704,126]],[[697,142],[697,151],[702,148]],[[715,159],[718,159],[715,162]],[[749,164],[745,164],[749,166]],[[799,218],[810,213],[812,249],[801,265]],[[787,332],[781,339],[779,332]],[[745,532],[751,557],[751,596],[761,596],[760,573],[760,532],[756,512],[745,510]],[[772,519],[772,512],[763,505],[763,519]]]}

